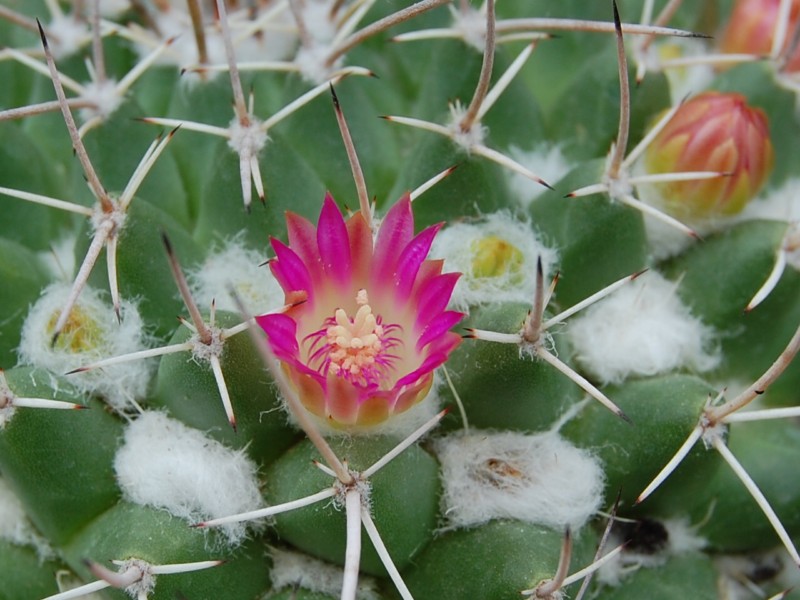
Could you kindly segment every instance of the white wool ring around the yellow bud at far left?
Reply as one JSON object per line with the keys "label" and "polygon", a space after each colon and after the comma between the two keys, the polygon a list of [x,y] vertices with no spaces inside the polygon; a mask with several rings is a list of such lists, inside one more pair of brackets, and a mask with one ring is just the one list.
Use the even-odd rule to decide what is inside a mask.
{"label": "white wool ring around the yellow bud at far left", "polygon": [[[138,352],[147,348],[149,336],[136,306],[123,300],[120,307],[122,322],[117,322],[114,309],[105,302],[105,294],[86,287],[81,292],[73,314],[80,314],[92,329],[93,345],[80,351],[61,347],[60,340],[73,335],[65,331],[59,343],[52,345],[52,327],[69,295],[70,286],[53,284],[47,287],[31,308],[22,327],[19,363],[41,367],[63,374],[105,358]],[[74,335],[80,335],[76,331]],[[154,362],[136,360],[92,369],[69,376],[69,381],[84,393],[97,394],[120,412],[136,405],[147,394]]]}

